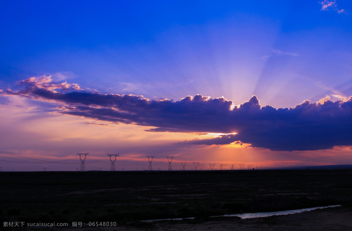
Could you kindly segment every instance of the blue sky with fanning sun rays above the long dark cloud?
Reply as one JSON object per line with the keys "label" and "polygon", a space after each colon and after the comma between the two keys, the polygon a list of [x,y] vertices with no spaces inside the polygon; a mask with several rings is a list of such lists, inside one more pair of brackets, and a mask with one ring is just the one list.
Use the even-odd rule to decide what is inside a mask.
{"label": "blue sky with fanning sun rays above the long dark cloud", "polygon": [[[201,94],[239,105],[254,94],[275,108],[326,95],[346,101],[351,14],[343,0],[4,2],[0,89],[51,75],[84,91],[151,100]],[[37,113],[53,111],[43,99],[26,100]]]}

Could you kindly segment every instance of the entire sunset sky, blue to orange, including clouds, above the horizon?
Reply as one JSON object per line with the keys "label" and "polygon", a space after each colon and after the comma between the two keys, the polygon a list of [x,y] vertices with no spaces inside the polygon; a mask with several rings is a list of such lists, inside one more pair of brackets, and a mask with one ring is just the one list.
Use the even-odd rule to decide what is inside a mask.
{"label": "entire sunset sky, blue to orange, including clouds, above the horizon", "polygon": [[352,164],[350,1],[8,1],[0,27],[2,171]]}

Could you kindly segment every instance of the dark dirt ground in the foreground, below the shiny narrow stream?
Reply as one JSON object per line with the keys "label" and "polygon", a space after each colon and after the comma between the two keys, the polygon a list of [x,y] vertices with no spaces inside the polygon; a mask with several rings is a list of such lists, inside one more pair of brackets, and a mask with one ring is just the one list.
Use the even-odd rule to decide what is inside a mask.
{"label": "dark dirt ground in the foreground, below the shiny narrow stream", "polygon": [[[252,219],[239,219],[228,217],[214,220],[182,220],[182,221],[162,221],[153,223],[132,223],[119,225],[116,227],[68,227],[68,228],[49,228],[53,231],[178,231],[178,230],[210,230],[210,231],[251,231],[251,230],[270,230],[270,231],[304,231],[304,230],[352,230],[352,210],[346,208],[328,208],[309,212],[272,216]],[[48,230],[40,228],[27,228],[27,230]]]}

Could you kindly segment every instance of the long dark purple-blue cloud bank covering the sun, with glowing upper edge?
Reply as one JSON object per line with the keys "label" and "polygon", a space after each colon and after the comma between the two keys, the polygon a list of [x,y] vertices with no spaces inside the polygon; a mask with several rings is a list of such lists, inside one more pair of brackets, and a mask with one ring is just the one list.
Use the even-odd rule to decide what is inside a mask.
{"label": "long dark purple-blue cloud bank covering the sun, with glowing upper edge", "polygon": [[322,150],[352,145],[352,97],[323,104],[304,101],[294,108],[261,107],[256,96],[231,110],[232,101],[202,95],[179,101],[149,100],[138,95],[85,92],[75,84],[30,78],[20,82],[22,95],[53,101],[64,114],[100,121],[153,126],[152,132],[234,133],[180,144],[229,144],[234,141],[270,150]]}

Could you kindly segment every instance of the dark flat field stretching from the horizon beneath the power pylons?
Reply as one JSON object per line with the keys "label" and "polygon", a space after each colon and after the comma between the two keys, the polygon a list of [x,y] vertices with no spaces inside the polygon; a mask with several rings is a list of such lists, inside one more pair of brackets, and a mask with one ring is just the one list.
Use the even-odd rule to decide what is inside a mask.
{"label": "dark flat field stretching from the horizon beneath the power pylons", "polygon": [[[235,221],[243,223],[244,220],[209,216],[337,204],[342,206],[326,210],[341,216],[347,214],[347,217],[352,214],[350,169],[1,172],[0,186],[0,227],[4,230],[12,228],[2,227],[3,222],[65,222],[71,225],[72,222],[107,221],[117,222],[118,227],[130,230],[167,230],[139,220],[196,217],[159,223],[163,227],[170,224],[180,227],[220,225]],[[308,213],[314,217],[319,212]],[[261,220],[265,223],[265,219],[272,222],[278,218]],[[300,220],[296,223],[302,225]],[[118,227],[109,229],[124,230]],[[92,227],[86,229],[92,230]]]}

